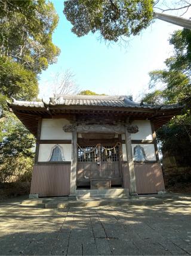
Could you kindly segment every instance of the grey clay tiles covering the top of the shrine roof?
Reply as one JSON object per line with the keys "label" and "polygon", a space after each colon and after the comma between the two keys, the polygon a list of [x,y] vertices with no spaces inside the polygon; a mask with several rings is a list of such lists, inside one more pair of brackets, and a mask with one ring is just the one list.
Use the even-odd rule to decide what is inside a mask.
{"label": "grey clay tiles covering the top of the shrine roof", "polygon": [[50,101],[16,101],[12,106],[23,107],[47,107],[47,106],[95,106],[95,107],[123,107],[135,109],[179,109],[182,106],[171,105],[151,105],[134,103],[127,96],[103,96],[103,95],[54,95]]}

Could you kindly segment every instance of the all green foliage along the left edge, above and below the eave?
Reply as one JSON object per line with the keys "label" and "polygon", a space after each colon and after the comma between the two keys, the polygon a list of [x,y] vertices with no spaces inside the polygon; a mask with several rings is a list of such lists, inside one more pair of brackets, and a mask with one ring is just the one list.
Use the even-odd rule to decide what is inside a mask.
{"label": "all green foliage along the left edge, above and below the eave", "polygon": [[58,23],[54,5],[45,0],[0,1],[0,181],[29,179],[35,138],[6,100],[34,100],[38,74],[57,60],[52,35]]}

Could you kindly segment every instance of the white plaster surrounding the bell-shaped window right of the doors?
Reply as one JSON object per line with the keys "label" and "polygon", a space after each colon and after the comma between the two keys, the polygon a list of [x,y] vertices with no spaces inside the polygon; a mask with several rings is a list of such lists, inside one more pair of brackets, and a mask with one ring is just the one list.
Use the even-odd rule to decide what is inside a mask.
{"label": "white plaster surrounding the bell-shaped window right of the doors", "polygon": [[[147,159],[149,161],[156,161],[154,144],[140,144],[140,145],[141,147],[144,148],[144,152],[146,153]],[[132,153],[134,152],[135,146],[137,146],[137,144],[132,144]],[[127,161],[127,152],[126,152],[125,144],[122,144],[122,150],[123,150],[124,161]]]}

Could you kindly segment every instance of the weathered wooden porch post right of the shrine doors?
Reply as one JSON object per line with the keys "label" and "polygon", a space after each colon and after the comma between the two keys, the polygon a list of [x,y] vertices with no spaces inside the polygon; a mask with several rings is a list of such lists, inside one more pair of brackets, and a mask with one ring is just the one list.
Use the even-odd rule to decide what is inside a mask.
{"label": "weathered wooden porch post right of the shrine doors", "polygon": [[130,195],[137,195],[133,153],[131,147],[131,134],[128,132],[127,127],[125,127],[125,146],[127,152],[127,168],[130,171]]}

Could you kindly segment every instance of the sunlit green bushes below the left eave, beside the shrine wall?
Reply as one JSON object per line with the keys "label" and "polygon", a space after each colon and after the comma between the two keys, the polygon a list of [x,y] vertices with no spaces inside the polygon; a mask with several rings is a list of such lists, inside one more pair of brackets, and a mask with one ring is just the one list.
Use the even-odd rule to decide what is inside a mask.
{"label": "sunlit green bushes below the left eave, beside the shrine wall", "polygon": [[0,119],[0,182],[30,179],[35,138],[13,114]]}

